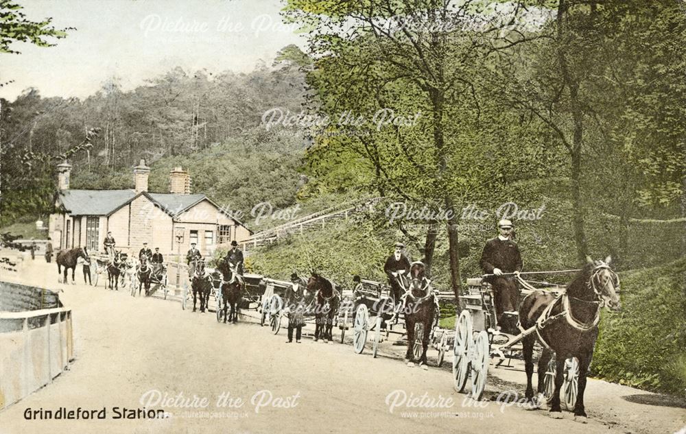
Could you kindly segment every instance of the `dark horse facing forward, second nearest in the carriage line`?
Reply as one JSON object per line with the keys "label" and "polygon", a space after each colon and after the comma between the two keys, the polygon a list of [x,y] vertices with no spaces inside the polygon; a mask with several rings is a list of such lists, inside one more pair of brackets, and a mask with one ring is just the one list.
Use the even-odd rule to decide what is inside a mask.
{"label": "dark horse facing forward, second nearest in the carriage line", "polygon": [[431,280],[425,276],[425,265],[419,261],[410,264],[408,274],[398,276],[398,282],[405,293],[401,296],[401,312],[405,315],[405,331],[407,332],[407,366],[414,366],[414,334],[416,326],[422,326],[422,354],[418,363],[423,369],[427,367],[427,349],[431,339],[434,320],[438,320],[438,300],[431,288]]}

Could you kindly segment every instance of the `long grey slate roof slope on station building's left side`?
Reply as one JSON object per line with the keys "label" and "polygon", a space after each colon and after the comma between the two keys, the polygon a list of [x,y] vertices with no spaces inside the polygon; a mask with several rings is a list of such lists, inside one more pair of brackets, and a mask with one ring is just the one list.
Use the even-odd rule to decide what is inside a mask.
{"label": "long grey slate roof slope on station building's left side", "polygon": [[71,215],[110,215],[136,196],[126,190],[60,190],[58,198]]}

